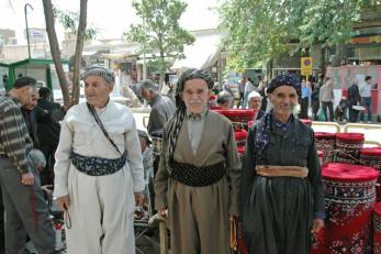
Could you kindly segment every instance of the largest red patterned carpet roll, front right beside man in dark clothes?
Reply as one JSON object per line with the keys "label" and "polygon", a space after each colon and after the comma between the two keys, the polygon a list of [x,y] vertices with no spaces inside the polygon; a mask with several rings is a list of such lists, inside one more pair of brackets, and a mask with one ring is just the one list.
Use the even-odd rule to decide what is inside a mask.
{"label": "largest red patterned carpet roll, front right beside man in dark clothes", "polygon": [[326,253],[370,253],[378,170],[329,163],[322,167],[327,219]]}

